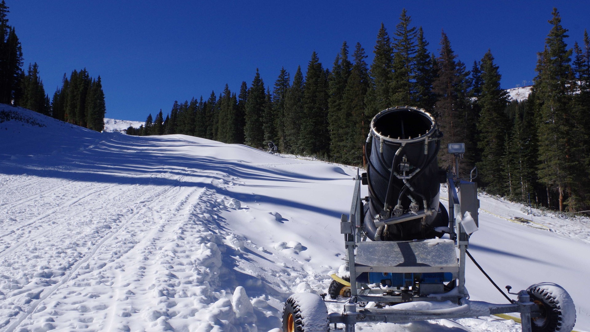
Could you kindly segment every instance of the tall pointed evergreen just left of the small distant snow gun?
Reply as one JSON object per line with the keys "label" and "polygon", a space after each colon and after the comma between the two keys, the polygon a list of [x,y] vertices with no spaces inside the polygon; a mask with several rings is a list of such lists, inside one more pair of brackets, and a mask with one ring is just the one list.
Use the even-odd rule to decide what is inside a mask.
{"label": "tall pointed evergreen just left of the small distant snow gun", "polygon": [[253,148],[263,146],[264,129],[262,116],[264,104],[266,103],[266,94],[264,93],[264,82],[260,78],[260,73],[256,69],[256,74],[250,90],[248,90],[248,99],[245,105],[245,127],[244,137],[245,144]]}

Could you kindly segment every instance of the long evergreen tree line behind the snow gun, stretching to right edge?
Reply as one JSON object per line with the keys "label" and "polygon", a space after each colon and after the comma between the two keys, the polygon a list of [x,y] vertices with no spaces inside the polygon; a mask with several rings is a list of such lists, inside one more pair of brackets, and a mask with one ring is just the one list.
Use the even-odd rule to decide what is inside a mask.
{"label": "long evergreen tree line behind the snow gun, stretching to right edge", "polygon": [[[568,49],[565,28],[553,9],[552,28],[539,53],[532,93],[509,100],[490,50],[470,69],[458,59],[443,31],[438,53],[428,51],[421,27],[405,9],[390,36],[381,24],[369,65],[356,43],[344,42],[331,68],[314,51],[305,74],[283,68],[272,86],[256,70],[238,93],[226,84],[183,103],[175,102],[130,135],[185,134],[281,152],[363,165],[371,118],[396,105],[424,108],[437,118],[442,139],[439,162],[453,165],[450,142],[465,142],[460,172],[478,167],[488,193],[531,201],[560,211],[590,209],[590,40]],[[573,58],[572,58],[573,56]]]}

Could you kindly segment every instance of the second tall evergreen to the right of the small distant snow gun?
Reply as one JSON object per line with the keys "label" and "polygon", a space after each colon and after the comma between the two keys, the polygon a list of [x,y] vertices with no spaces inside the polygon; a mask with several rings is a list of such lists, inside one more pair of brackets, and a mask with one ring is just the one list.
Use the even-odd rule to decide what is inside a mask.
{"label": "second tall evergreen to the right of the small distant snow gun", "polygon": [[303,116],[303,86],[303,73],[301,73],[301,67],[299,66],[293,77],[293,85],[285,96],[284,151],[288,153],[301,153],[299,132],[301,129],[301,117]]}

